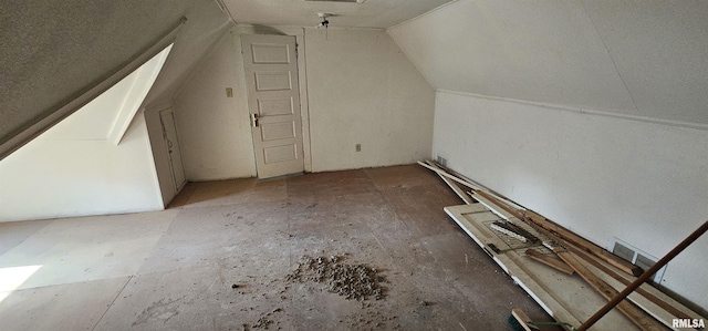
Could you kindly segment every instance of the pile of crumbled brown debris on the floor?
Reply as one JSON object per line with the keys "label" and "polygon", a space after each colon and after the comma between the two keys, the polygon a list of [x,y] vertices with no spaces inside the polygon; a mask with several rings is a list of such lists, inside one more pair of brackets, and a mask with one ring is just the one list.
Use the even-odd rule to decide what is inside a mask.
{"label": "pile of crumbled brown debris on the floor", "polygon": [[347,265],[343,257],[331,256],[312,258],[305,256],[298,263],[298,269],[285,277],[288,281],[314,281],[324,283],[327,291],[345,299],[366,300],[369,297],[381,300],[385,296],[382,282],[386,279],[378,275],[379,270],[366,265]]}

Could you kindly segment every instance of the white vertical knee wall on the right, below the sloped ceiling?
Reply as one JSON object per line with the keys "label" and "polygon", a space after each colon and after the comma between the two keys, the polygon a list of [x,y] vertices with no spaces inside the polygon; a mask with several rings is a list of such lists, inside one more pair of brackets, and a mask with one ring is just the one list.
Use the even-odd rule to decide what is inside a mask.
{"label": "white vertical knee wall on the right, below the sloped ceiling", "polygon": [[[438,92],[433,154],[605,248],[660,258],[708,217],[708,131]],[[707,250],[704,236],[662,285],[708,307]]]}

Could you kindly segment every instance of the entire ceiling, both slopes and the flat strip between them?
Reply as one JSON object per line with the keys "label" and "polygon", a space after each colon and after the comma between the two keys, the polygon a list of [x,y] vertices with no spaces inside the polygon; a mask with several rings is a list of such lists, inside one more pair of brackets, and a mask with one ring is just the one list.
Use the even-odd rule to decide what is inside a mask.
{"label": "entire ceiling, both slopes and the flat strip between them", "polygon": [[393,27],[438,89],[708,123],[702,1],[3,0],[0,159],[157,53],[181,18],[147,102],[174,96],[229,15],[315,27],[317,12],[331,28]]}

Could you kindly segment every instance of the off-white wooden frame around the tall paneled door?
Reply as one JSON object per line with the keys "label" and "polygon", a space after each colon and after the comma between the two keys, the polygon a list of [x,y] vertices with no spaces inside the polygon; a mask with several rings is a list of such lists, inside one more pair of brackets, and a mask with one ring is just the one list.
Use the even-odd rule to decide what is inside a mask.
{"label": "off-white wooden frame around the tall paneled door", "polygon": [[[311,138],[310,138],[310,107],[308,101],[308,73],[306,73],[306,64],[305,64],[305,35],[304,29],[302,28],[272,28],[272,31],[262,31],[262,28],[240,24],[233,28],[232,34],[235,37],[235,45],[237,50],[238,63],[240,65],[239,71],[241,76],[239,76],[239,81],[243,84],[243,91],[248,90],[247,81],[246,81],[246,72],[243,70],[243,55],[242,55],[242,44],[241,44],[241,34],[280,34],[280,35],[291,35],[295,38],[295,51],[296,51],[296,62],[298,62],[298,84],[299,84],[299,93],[300,93],[300,117],[302,125],[302,152],[303,156],[303,166],[305,173],[312,172],[312,148],[311,148]],[[244,120],[250,122],[250,108],[248,104],[248,100],[246,101],[246,110],[244,110]],[[253,142],[251,142],[253,145]],[[253,168],[258,173],[258,168],[256,165],[256,146],[253,145],[252,149],[253,157]]]}

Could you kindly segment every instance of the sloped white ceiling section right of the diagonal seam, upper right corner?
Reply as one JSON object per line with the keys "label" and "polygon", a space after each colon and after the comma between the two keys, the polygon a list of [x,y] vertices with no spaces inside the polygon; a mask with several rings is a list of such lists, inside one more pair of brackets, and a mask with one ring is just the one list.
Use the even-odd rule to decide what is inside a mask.
{"label": "sloped white ceiling section right of the diagonal seam, upper right corner", "polygon": [[708,1],[583,1],[639,114],[708,124]]}

